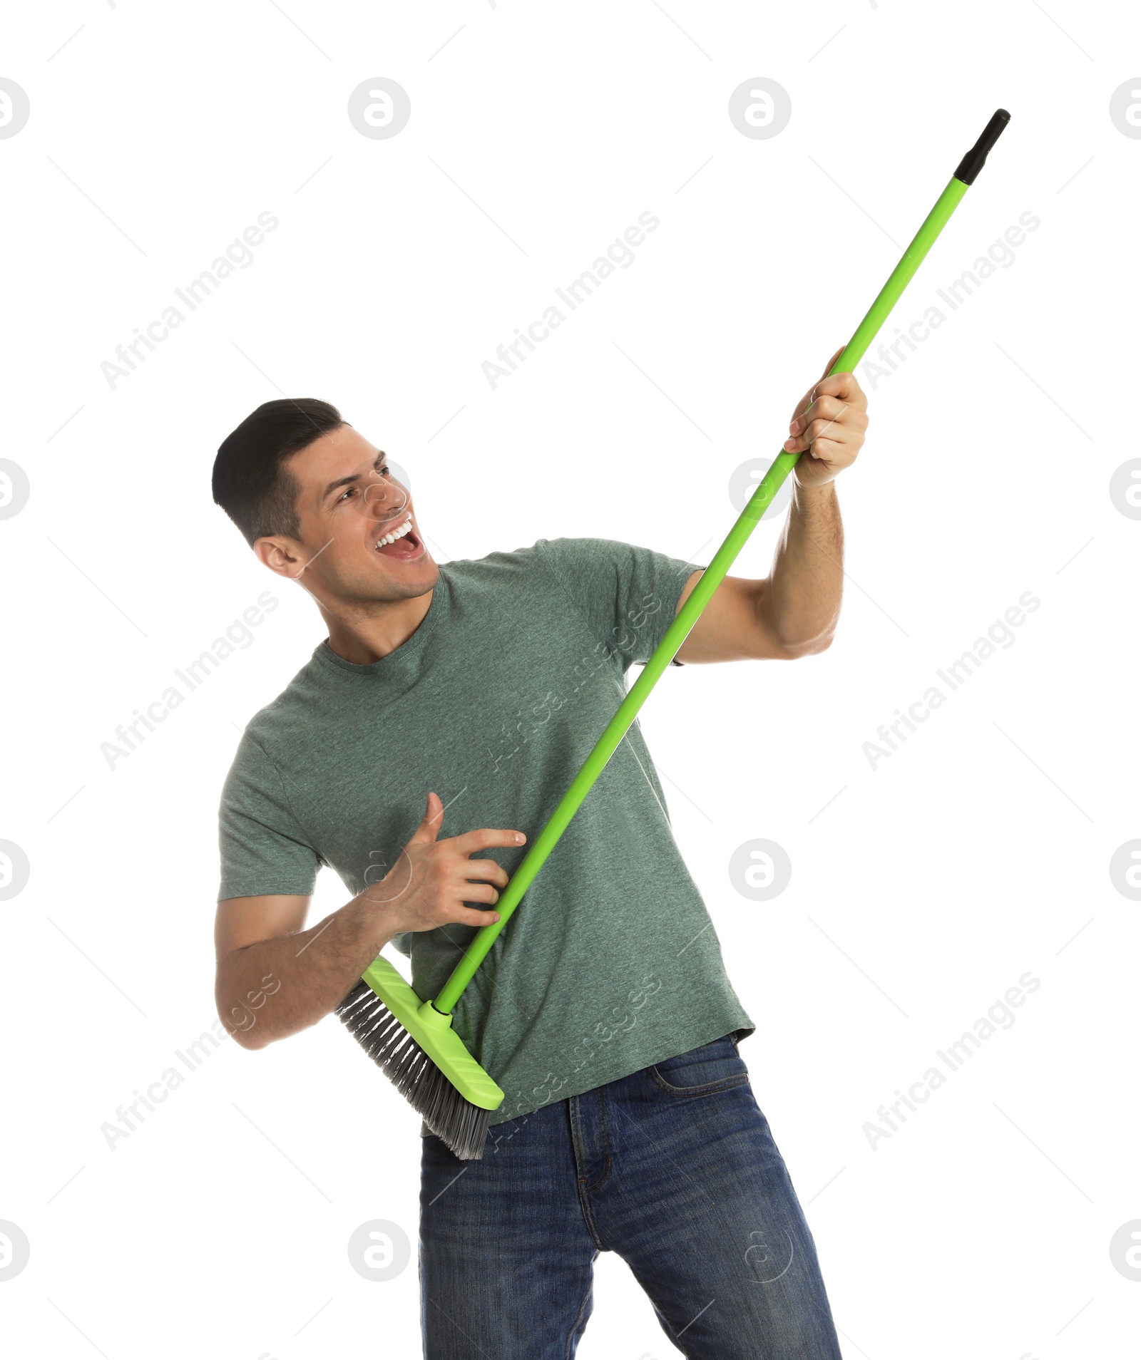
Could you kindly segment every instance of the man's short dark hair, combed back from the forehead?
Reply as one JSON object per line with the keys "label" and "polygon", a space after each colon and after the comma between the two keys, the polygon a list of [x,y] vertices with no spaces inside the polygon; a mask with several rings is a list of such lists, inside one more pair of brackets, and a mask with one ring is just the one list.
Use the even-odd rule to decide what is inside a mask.
{"label": "man's short dark hair, combed back from the forehead", "polygon": [[299,536],[301,486],[286,460],[347,423],[328,401],[286,397],[260,405],[222,441],[214,460],[214,500],[250,547],[275,533]]}

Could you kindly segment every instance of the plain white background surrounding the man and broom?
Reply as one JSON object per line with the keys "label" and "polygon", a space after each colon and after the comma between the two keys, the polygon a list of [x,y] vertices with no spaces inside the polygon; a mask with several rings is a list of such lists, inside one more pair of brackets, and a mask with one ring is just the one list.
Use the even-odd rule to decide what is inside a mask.
{"label": "plain white background surrounding the man and broom", "polygon": [[[31,1257],[0,1282],[8,1353],[419,1353],[415,1263],[375,1284],[345,1250],[369,1219],[415,1240],[418,1122],[336,1019],[227,1042],[114,1151],[101,1133],[215,1019],[220,785],[324,636],[212,505],[220,439],[320,396],[407,469],[441,560],[600,534],[707,562],[730,475],[779,447],[1001,105],[889,326],[1020,214],[1040,227],[864,379],[835,645],[670,670],[642,724],[845,1356],[1136,1355],[1141,1284],[1110,1239],[1141,1219],[1141,906],[1108,862],[1141,836],[1141,522],[1110,477],[1138,453],[1141,141],[1108,103],[1138,27],[1073,0],[10,15],[0,75],[31,117],[0,140],[0,456],[31,495],[0,522],[0,838],[31,876],[0,904],[0,1219]],[[390,140],[345,112],[378,75],[412,105]],[[772,139],[728,117],[753,76],[791,98]],[[262,211],[253,264],[109,386],[116,345]],[[643,211],[635,262],[492,390],[495,347]],[[767,571],[775,533],[736,574]],[[116,726],[268,588],[253,645],[109,768]],[[1016,642],[873,770],[864,743],[1024,592]],[[791,858],[771,902],[729,881],[751,838]],[[311,919],[344,896],[322,879]],[[1016,1023],[873,1151],[877,1107],[1027,971]],[[672,1353],[602,1257],[579,1355]]]}

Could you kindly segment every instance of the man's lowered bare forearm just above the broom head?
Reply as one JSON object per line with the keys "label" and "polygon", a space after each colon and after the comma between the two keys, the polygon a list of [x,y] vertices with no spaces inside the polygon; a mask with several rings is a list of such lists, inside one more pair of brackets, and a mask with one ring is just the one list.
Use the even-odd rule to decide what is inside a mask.
{"label": "man's lowered bare forearm just above the broom head", "polygon": [[309,930],[234,949],[219,963],[218,1013],[243,1049],[307,1030],[396,933],[390,908],[354,898]]}

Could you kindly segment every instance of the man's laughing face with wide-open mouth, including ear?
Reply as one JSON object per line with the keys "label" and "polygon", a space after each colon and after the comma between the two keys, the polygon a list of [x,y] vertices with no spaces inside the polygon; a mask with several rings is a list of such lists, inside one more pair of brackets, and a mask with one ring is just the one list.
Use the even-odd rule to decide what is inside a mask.
{"label": "man's laughing face with wide-open mouth, including ear", "polygon": [[[432,589],[439,567],[420,537],[412,496],[363,435],[341,426],[286,468],[301,486],[301,537],[258,541],[292,545],[288,575],[329,602],[409,600]],[[272,549],[262,560],[280,562]]]}

